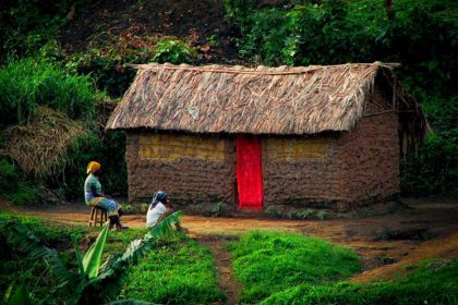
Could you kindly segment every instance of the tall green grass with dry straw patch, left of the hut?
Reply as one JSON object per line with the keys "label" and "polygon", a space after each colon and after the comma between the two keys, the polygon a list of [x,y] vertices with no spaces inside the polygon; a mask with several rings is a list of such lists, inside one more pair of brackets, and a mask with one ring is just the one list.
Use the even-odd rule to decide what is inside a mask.
{"label": "tall green grass with dry straw patch, left of the hut", "polygon": [[124,136],[104,132],[106,97],[89,76],[56,62],[16,60],[0,70],[0,143],[10,157],[0,161],[3,196],[39,203],[39,187],[32,184],[63,198],[80,196],[92,159],[103,162],[108,192],[125,190]]}

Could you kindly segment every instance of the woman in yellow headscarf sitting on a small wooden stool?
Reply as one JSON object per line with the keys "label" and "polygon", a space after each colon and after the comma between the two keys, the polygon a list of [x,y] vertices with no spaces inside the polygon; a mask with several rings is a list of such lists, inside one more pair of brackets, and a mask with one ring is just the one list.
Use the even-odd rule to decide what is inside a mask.
{"label": "woman in yellow headscarf sitting on a small wooden stool", "polygon": [[84,198],[86,205],[93,207],[99,207],[108,211],[108,218],[110,219],[110,229],[114,225],[119,229],[128,229],[128,227],[122,225],[120,217],[122,215],[121,205],[114,202],[111,198],[108,198],[101,192],[101,184],[98,181],[98,174],[100,173],[100,163],[96,161],[89,162],[87,166],[87,178],[84,182]]}

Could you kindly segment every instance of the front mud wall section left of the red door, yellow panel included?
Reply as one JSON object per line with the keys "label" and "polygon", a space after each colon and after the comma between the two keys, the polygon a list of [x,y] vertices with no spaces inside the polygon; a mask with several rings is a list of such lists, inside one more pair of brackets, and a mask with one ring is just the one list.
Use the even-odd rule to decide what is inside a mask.
{"label": "front mud wall section left of the red door, yellow panel included", "polygon": [[129,200],[157,190],[177,204],[232,202],[234,143],[217,136],[128,133]]}

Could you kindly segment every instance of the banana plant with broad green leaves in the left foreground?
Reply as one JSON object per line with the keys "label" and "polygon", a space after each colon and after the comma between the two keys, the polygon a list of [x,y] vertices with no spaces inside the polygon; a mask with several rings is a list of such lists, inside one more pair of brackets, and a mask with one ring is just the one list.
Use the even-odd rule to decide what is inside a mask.
{"label": "banana plant with broad green leaves in the left foreground", "polygon": [[[180,221],[181,215],[181,211],[177,211],[168,216],[150,229],[142,240],[132,241],[121,256],[110,255],[104,264],[101,264],[101,256],[108,236],[108,224],[104,227],[84,256],[76,239],[73,237],[77,271],[69,270],[58,253],[44,246],[21,222],[0,219],[0,230],[5,235],[8,243],[16,249],[28,253],[33,258],[43,257],[48,261],[52,273],[60,282],[58,289],[65,291],[67,300],[62,302],[63,304],[103,304],[116,298],[124,283],[129,267],[138,263],[158,239],[174,232],[172,224]],[[137,301],[128,300],[124,303],[138,304]]]}

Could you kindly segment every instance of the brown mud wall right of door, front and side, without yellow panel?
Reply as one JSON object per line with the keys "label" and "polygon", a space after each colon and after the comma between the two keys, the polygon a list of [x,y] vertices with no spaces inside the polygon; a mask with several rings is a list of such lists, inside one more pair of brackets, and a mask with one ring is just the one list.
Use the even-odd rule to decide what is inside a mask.
{"label": "brown mud wall right of door, front and side, without yellow panel", "polygon": [[321,157],[273,158],[263,141],[264,204],[338,207],[399,193],[398,121],[394,112],[363,118],[350,132],[328,135]]}

